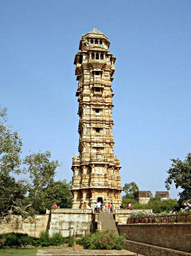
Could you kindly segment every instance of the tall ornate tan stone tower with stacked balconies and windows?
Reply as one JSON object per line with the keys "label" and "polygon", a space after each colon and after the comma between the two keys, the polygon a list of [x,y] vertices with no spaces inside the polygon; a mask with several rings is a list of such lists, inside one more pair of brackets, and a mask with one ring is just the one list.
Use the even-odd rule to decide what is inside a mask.
{"label": "tall ornate tan stone tower with stacked balconies and windows", "polygon": [[80,116],[78,151],[72,159],[72,208],[84,202],[91,207],[101,201],[121,204],[119,160],[114,155],[111,81],[115,57],[109,51],[110,41],[99,30],[82,36],[76,53],[76,80]]}

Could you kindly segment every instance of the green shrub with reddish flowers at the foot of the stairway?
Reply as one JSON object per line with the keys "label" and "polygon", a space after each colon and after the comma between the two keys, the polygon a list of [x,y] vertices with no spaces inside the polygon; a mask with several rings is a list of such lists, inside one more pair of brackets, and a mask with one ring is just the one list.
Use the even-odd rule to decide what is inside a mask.
{"label": "green shrub with reddish flowers at the foot of the stairway", "polygon": [[116,234],[113,230],[107,230],[87,234],[78,239],[76,243],[84,246],[84,249],[122,250],[125,241],[122,235]]}

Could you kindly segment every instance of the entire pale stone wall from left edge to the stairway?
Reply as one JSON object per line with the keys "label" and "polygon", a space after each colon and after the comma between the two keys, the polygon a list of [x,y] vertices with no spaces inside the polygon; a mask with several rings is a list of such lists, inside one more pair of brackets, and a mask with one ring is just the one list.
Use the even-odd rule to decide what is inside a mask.
{"label": "entire pale stone wall from left edge to the stairway", "polygon": [[0,223],[0,234],[25,233],[39,237],[41,231],[49,230],[49,234],[60,232],[63,236],[81,236],[94,230],[92,210],[56,209],[47,211],[46,215],[23,220],[19,215],[12,215]]}

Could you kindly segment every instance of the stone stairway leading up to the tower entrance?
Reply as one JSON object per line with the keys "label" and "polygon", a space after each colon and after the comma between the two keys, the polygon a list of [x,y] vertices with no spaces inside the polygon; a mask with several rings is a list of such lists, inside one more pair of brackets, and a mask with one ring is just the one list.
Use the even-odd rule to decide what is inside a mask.
{"label": "stone stairway leading up to the tower entrance", "polygon": [[98,226],[99,230],[114,230],[117,234],[119,234],[117,226],[115,224],[115,219],[113,217],[113,214],[111,213],[100,212],[98,218]]}

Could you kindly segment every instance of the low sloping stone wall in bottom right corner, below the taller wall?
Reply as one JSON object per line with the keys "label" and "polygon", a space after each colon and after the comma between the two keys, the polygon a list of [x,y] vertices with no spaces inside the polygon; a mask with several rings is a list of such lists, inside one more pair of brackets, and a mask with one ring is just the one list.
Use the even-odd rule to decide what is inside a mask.
{"label": "low sloping stone wall in bottom right corner, below the taller wall", "polygon": [[134,242],[130,240],[126,240],[125,249],[131,250],[136,254],[142,254],[144,256],[191,256],[191,254],[180,250],[151,246],[146,243]]}

